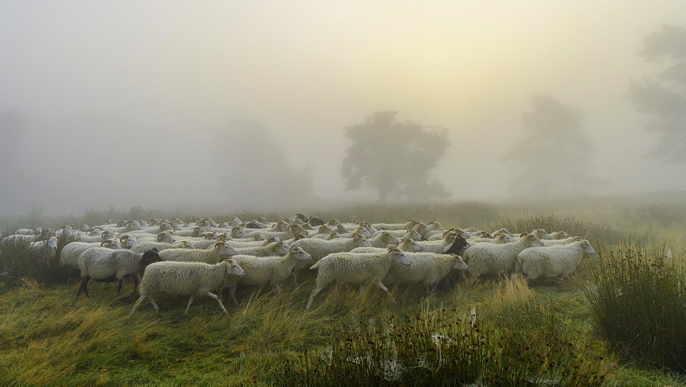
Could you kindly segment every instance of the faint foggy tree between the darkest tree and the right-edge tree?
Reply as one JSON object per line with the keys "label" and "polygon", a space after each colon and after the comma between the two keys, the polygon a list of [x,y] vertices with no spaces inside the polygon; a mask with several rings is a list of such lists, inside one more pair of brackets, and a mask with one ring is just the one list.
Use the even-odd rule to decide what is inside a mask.
{"label": "faint foggy tree between the darkest tree and the right-edge tree", "polygon": [[512,192],[578,194],[598,185],[588,161],[595,150],[582,132],[580,111],[549,95],[534,95],[532,103],[534,110],[522,117],[528,136],[504,158],[512,162]]}

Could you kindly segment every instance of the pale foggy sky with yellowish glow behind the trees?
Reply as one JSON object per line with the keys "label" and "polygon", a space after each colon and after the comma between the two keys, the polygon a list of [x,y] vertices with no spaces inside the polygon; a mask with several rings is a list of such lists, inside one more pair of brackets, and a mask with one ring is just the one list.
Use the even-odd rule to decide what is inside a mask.
{"label": "pale foggy sky with yellowish glow behind the trees", "polygon": [[686,189],[684,164],[648,156],[659,135],[628,98],[669,65],[639,51],[686,26],[681,0],[1,9],[0,215],[378,200],[346,190],[344,128],[388,110],[447,130],[430,174],[451,200],[508,200],[522,169],[536,173],[508,159],[536,96],[580,114],[593,152],[576,193]]}

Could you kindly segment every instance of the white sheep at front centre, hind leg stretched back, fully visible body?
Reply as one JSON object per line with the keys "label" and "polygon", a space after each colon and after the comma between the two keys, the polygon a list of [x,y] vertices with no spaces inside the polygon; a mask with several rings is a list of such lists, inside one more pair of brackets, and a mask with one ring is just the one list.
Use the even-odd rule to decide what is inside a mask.
{"label": "white sheep at front centre, hind leg stretched back, fully visible body", "polygon": [[389,248],[386,253],[333,253],[322,258],[311,269],[318,269],[316,287],[309,296],[309,309],[314,297],[329,283],[351,283],[359,285],[360,293],[366,285],[375,285],[390,296],[388,288],[381,282],[386,277],[393,262],[401,265],[411,265],[405,252],[397,248]]}

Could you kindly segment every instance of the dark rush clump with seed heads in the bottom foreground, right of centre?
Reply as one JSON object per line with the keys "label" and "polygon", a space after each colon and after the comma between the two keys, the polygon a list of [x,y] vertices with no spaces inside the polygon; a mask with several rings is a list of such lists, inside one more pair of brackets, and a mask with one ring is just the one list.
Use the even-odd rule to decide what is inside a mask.
{"label": "dark rush clump with seed heads in the bottom foreground, right of centre", "polygon": [[521,277],[506,282],[481,322],[457,308],[360,320],[279,373],[305,386],[603,384],[612,365],[602,346],[537,300]]}

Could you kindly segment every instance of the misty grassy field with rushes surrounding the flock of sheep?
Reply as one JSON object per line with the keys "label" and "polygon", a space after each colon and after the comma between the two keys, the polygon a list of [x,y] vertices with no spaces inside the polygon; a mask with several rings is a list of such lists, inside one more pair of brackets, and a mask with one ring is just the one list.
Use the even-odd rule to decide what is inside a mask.
{"label": "misty grassy field with rushes surrounding the flock of sheep", "polygon": [[[327,288],[305,312],[314,276],[298,288],[239,290],[222,314],[201,298],[160,297],[155,314],[126,283],[94,283],[91,298],[56,268],[26,266],[4,251],[0,282],[0,384],[680,385],[686,384],[686,206],[594,198],[545,204],[350,205],[288,212],[202,213],[277,220],[318,215],[342,222],[404,222],[511,231],[560,229],[589,239],[596,254],[567,281],[521,277],[462,281],[431,296],[399,288]],[[3,228],[100,224],[185,213],[86,211],[1,220]],[[61,248],[62,246],[60,246]],[[58,248],[59,250],[59,248]]]}

